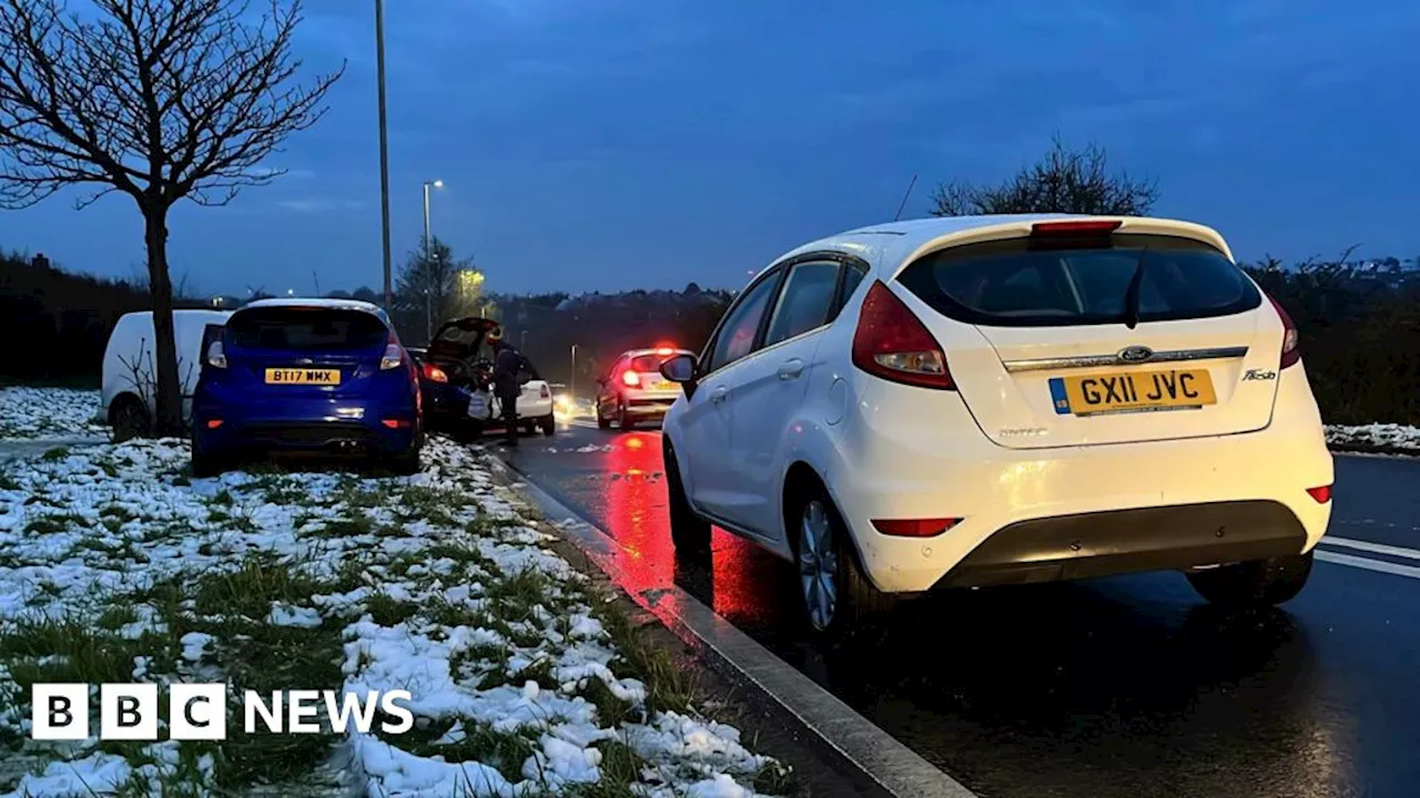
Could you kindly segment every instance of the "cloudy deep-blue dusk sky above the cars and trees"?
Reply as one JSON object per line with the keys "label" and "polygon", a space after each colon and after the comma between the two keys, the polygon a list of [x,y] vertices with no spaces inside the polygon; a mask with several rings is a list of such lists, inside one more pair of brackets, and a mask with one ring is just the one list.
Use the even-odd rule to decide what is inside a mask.
{"label": "cloudy deep-blue dusk sky above the cars and trees", "polygon": [[[308,0],[329,115],[224,209],[179,206],[202,293],[381,284],[372,0]],[[260,6],[260,3],[257,4]],[[388,0],[396,268],[435,233],[494,291],[738,287],[809,239],[927,213],[1059,132],[1242,260],[1420,254],[1420,4],[1399,0]],[[0,247],[141,271],[132,200],[0,212]]]}

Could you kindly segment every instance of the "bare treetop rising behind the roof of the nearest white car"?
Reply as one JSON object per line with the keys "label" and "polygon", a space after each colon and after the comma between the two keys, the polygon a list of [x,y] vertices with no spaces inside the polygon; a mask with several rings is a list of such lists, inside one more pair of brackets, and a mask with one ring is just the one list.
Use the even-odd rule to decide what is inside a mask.
{"label": "bare treetop rising behind the roof of the nearest white car", "polygon": [[933,216],[984,213],[1096,213],[1142,216],[1159,190],[1150,180],[1110,175],[1099,145],[1066,149],[1059,136],[1039,160],[997,186],[950,182],[937,186],[932,197]]}

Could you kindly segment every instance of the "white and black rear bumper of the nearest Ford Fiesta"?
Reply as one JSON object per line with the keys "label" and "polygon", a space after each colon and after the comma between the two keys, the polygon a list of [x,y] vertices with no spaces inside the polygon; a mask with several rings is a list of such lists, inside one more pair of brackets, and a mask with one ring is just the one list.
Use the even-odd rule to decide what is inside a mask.
{"label": "white and black rear bumper of the nearest Ford Fiesta", "polygon": [[[1059,449],[995,446],[956,395],[939,398],[934,425],[869,403],[883,412],[845,417],[825,481],[888,592],[1302,554],[1332,511],[1306,490],[1332,484],[1333,464],[1298,376],[1260,432]],[[961,521],[907,538],[880,534],[885,518]]]}

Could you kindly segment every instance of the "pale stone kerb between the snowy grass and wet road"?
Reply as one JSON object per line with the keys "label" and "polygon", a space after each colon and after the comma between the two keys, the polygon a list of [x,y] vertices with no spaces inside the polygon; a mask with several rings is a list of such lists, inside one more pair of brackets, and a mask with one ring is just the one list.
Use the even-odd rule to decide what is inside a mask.
{"label": "pale stone kerb between the snowy grass and wet road", "polygon": [[[501,457],[488,453],[484,457],[490,467],[513,479],[514,490],[542,510],[544,515],[548,515],[550,525],[564,540],[588,554],[604,574],[616,581],[615,568],[608,562],[612,548],[622,550],[616,538]],[[551,518],[554,515],[572,520],[578,528],[554,521]],[[711,652],[741,679],[774,699],[804,728],[896,798],[978,798],[961,782],[716,615],[696,596],[674,585],[656,596],[621,589],[672,632],[682,638],[686,633],[692,635],[704,650]],[[667,598],[670,601],[666,601]]]}

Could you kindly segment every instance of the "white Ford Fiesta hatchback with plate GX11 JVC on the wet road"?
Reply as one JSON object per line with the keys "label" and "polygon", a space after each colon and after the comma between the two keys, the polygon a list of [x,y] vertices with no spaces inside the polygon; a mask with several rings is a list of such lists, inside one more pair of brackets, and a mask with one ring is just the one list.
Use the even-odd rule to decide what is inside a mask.
{"label": "white Ford Fiesta hatchback with plate GX11 JVC on the wet road", "polygon": [[1200,224],[853,230],[662,373],[676,547],[716,524],[791,558],[819,632],[892,594],[1160,569],[1279,603],[1331,518],[1296,329]]}

